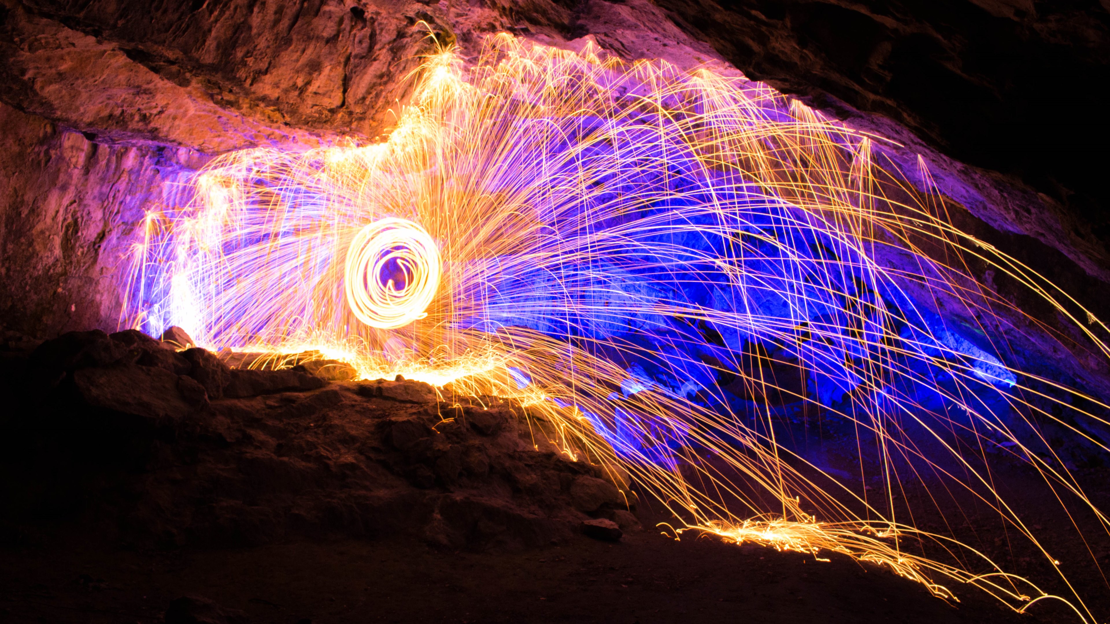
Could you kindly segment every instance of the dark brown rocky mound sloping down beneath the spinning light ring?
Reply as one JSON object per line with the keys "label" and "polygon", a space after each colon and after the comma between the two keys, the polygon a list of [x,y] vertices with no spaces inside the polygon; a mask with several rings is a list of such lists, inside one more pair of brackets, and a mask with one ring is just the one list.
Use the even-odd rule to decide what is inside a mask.
{"label": "dark brown rocky mound sloping down beneath the spinning light ring", "polygon": [[0,523],[80,517],[151,545],[404,533],[457,548],[543,545],[635,509],[519,404],[228,369],[195,348],[182,374],[141,363],[162,351],[176,354],[134,331],[3,351]]}

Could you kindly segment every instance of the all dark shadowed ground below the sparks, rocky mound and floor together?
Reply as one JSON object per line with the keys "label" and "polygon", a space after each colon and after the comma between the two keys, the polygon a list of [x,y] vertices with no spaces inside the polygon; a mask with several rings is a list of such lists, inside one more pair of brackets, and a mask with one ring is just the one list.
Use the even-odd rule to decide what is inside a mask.
{"label": "all dark shadowed ground below the sparks, rocky mound and floor together", "polygon": [[[694,533],[676,541],[646,492],[635,504],[619,475],[538,446],[551,423],[524,423],[512,402],[317,376],[326,369],[229,369],[130,331],[9,346],[0,623],[1080,621],[1050,601],[1020,616],[966,586],[951,587],[961,602],[950,604],[825,553],[830,562]],[[819,443],[811,451],[841,471],[856,449],[844,426],[784,423],[799,450]],[[1092,564],[1110,562],[1097,519],[1076,504],[1066,515],[1025,463],[1000,454],[992,465],[1092,611],[1110,612]],[[1110,469],[1082,472],[1106,509]],[[1052,564],[997,512],[942,492],[907,480],[891,497],[899,509],[936,501],[918,526],[1067,592],[1043,584]],[[578,533],[591,519],[616,521],[624,536]]]}

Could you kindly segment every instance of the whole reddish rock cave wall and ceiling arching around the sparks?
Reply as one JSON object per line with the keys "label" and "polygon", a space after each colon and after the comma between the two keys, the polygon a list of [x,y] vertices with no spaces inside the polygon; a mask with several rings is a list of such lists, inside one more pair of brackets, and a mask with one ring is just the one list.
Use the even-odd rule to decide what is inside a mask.
{"label": "whole reddish rock cave wall and ceiling arching around the sparks", "polygon": [[[986,53],[976,38],[986,23],[997,31],[991,41],[1000,59],[1028,46],[1015,59],[1032,62],[1037,50],[1050,48],[1054,56],[1025,67],[1067,66],[1097,79],[1106,67],[1099,64],[1104,10],[1040,3],[1010,10],[985,1],[926,10],[910,0],[886,8],[754,0],[0,0],[7,128],[0,139],[7,148],[0,157],[0,323],[40,335],[114,330],[123,290],[118,268],[142,233],[145,211],[186,201],[176,183],[189,173],[245,147],[372,140],[389,128],[391,107],[405,101],[406,78],[432,47],[430,32],[472,57],[482,36],[497,31],[571,48],[591,37],[626,59],[709,64],[733,74],[738,68],[796,93],[850,127],[897,141],[881,155],[924,187],[914,173],[920,158],[977,235],[1104,310],[1110,255],[1098,210],[1106,204],[1090,193],[1083,204],[1062,185],[1066,179],[1052,178],[1054,170],[1037,169],[1041,161],[1062,167],[1070,155],[1033,162],[1036,142],[985,143],[983,132],[1005,134],[1000,129],[1046,98],[1027,97],[1023,70],[1001,60],[991,66],[990,54],[971,63]],[[1006,20],[1016,26],[1002,28]],[[948,51],[897,52],[928,38]],[[909,43],[898,43],[902,39]],[[930,78],[918,67],[926,61],[937,76],[956,78]],[[961,77],[980,90],[956,84]],[[899,91],[907,81],[934,100]],[[1066,100],[1060,87],[1042,91]],[[998,119],[990,125],[992,113]],[[1038,128],[1060,135],[1050,127]],[[983,144],[1033,164],[980,158],[971,148]]]}

